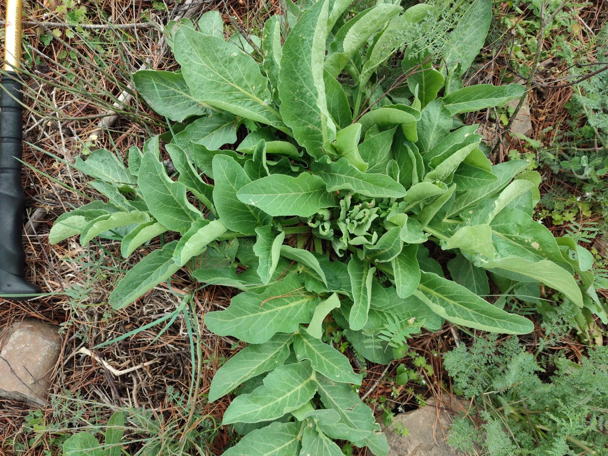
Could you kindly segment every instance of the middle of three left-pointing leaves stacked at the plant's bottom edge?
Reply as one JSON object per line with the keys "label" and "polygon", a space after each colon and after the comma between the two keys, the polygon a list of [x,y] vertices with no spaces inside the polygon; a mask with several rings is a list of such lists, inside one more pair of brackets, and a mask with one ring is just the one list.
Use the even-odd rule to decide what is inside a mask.
{"label": "middle of three left-pointing leaves stacked at the plant's bottom edge", "polygon": [[277,367],[264,378],[261,387],[232,401],[222,423],[276,420],[299,409],[317,392],[316,376],[309,361]]}

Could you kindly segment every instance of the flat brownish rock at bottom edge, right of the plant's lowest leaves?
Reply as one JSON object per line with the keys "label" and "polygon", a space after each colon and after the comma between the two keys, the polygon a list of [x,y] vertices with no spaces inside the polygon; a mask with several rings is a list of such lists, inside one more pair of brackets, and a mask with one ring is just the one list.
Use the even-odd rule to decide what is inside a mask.
{"label": "flat brownish rock at bottom edge, right of the plant's lowest leaves", "polygon": [[[451,418],[440,412],[437,420],[436,412],[434,399],[429,399],[426,407],[399,413],[390,427],[382,426],[389,441],[389,456],[463,456],[444,443]],[[397,423],[406,427],[409,435],[397,434]]]}

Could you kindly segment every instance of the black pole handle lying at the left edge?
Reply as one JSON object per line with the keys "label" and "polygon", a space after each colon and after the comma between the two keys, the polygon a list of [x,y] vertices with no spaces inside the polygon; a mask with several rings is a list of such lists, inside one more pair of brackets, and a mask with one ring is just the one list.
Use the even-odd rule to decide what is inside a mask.
{"label": "black pole handle lying at the left edge", "polygon": [[21,226],[26,198],[21,185],[23,94],[16,75],[2,75],[0,88],[0,295],[40,293],[25,279]]}

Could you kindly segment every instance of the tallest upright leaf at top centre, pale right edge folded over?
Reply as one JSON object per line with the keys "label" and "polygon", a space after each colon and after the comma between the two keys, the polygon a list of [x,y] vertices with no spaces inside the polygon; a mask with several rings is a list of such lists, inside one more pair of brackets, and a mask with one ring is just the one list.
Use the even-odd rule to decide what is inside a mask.
{"label": "tallest upright leaf at top centre, pale right edge folded over", "polygon": [[336,135],[323,82],[327,18],[328,0],[306,10],[285,40],[278,74],[283,120],[317,160],[323,156],[323,145]]}

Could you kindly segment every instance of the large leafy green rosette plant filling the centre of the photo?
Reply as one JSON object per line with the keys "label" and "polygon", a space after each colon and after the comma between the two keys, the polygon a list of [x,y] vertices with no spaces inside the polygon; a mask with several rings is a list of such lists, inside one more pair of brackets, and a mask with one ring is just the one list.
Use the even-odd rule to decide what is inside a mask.
{"label": "large leafy green rosette plant filling the centre of the photo", "polygon": [[[488,32],[489,0],[465,10],[439,69],[397,39],[437,20],[434,7],[378,4],[345,21],[349,1],[289,4],[261,40],[226,40],[217,12],[167,26],[181,71],[139,71],[134,82],[175,123],[143,151],[131,148],[128,167],[107,150],[77,159],[108,202],[61,215],[50,242],[120,239],[128,258],[161,236],[162,248],[111,292],[116,309],[182,268],[241,291],[204,316],[209,330],[248,344],[209,392],[215,401],[242,385],[223,423],[244,437],[225,455],[340,455],[333,439],[386,455],[356,392],[361,375],[323,341],[328,316],[380,364],[398,355],[395,340],[444,320],[525,334],[530,320],[484,299],[489,277],[505,294],[534,294],[542,283],[593,309],[592,258],[533,220],[541,176],[525,161],[492,165],[478,126],[463,123],[525,90],[463,87]],[[401,76],[387,81],[382,71],[401,49]],[[227,147],[238,129],[243,139]],[[452,280],[432,258],[439,250],[451,252]]]}

